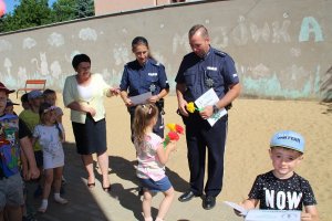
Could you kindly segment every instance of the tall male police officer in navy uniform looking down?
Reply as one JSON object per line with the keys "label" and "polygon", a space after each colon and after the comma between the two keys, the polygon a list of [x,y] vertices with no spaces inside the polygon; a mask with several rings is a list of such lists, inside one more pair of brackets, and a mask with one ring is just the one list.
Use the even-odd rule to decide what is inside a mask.
{"label": "tall male police officer in navy uniform looking down", "polygon": [[[205,192],[203,208],[209,210],[215,207],[216,197],[222,188],[228,116],[218,119],[214,126],[206,119],[219,109],[230,107],[240,94],[240,84],[232,59],[210,46],[209,34],[204,25],[194,25],[188,36],[193,52],[184,56],[175,81],[178,110],[186,125],[190,189],[178,200],[185,202]],[[200,112],[189,113],[187,104],[210,88],[214,88],[219,102]],[[208,179],[204,187],[206,149]]]}

